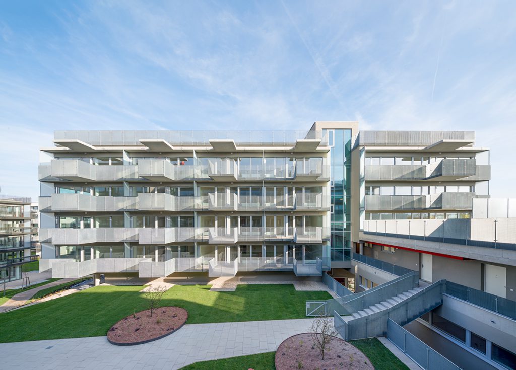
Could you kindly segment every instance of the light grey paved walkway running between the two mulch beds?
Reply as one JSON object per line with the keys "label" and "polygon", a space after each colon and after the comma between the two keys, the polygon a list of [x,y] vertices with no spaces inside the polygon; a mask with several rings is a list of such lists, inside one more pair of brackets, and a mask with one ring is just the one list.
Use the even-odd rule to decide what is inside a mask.
{"label": "light grey paved walkway running between the two mulch beds", "polygon": [[137,346],[111,345],[106,337],[2,343],[4,368],[174,370],[193,362],[275,351],[292,335],[309,331],[312,318],[187,324],[168,337]]}

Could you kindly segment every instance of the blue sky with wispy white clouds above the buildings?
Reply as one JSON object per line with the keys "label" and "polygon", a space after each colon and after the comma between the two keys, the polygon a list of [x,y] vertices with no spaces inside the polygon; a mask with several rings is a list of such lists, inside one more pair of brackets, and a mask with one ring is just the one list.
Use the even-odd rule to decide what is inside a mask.
{"label": "blue sky with wispy white clouds above the buildings", "polygon": [[36,198],[62,129],[475,130],[516,182],[516,2],[0,5],[0,190]]}

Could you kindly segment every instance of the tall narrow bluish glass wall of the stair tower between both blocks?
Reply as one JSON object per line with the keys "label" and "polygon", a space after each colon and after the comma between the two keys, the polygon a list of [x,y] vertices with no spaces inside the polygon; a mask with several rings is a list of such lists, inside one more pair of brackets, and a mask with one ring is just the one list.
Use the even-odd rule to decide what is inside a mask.
{"label": "tall narrow bluish glass wall of the stair tower between both blocks", "polygon": [[325,129],[330,141],[332,261],[349,261],[351,247],[351,129]]}

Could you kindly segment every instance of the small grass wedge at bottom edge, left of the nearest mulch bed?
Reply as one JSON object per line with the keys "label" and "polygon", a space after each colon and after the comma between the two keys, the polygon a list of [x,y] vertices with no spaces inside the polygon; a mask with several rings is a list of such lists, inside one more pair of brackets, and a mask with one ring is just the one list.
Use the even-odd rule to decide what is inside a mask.
{"label": "small grass wedge at bottom edge, left of the nearest mulch bed", "polygon": [[228,359],[196,362],[182,367],[180,370],[276,370],[274,356],[276,352],[265,352],[264,354],[230,357]]}

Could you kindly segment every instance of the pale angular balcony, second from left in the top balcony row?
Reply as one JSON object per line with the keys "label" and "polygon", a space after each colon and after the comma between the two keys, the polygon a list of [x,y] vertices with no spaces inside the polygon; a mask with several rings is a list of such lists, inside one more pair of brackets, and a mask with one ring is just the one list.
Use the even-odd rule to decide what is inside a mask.
{"label": "pale angular balcony, second from left in the top balcony row", "polygon": [[164,159],[138,160],[139,176],[152,181],[193,180],[193,166],[174,165]]}

